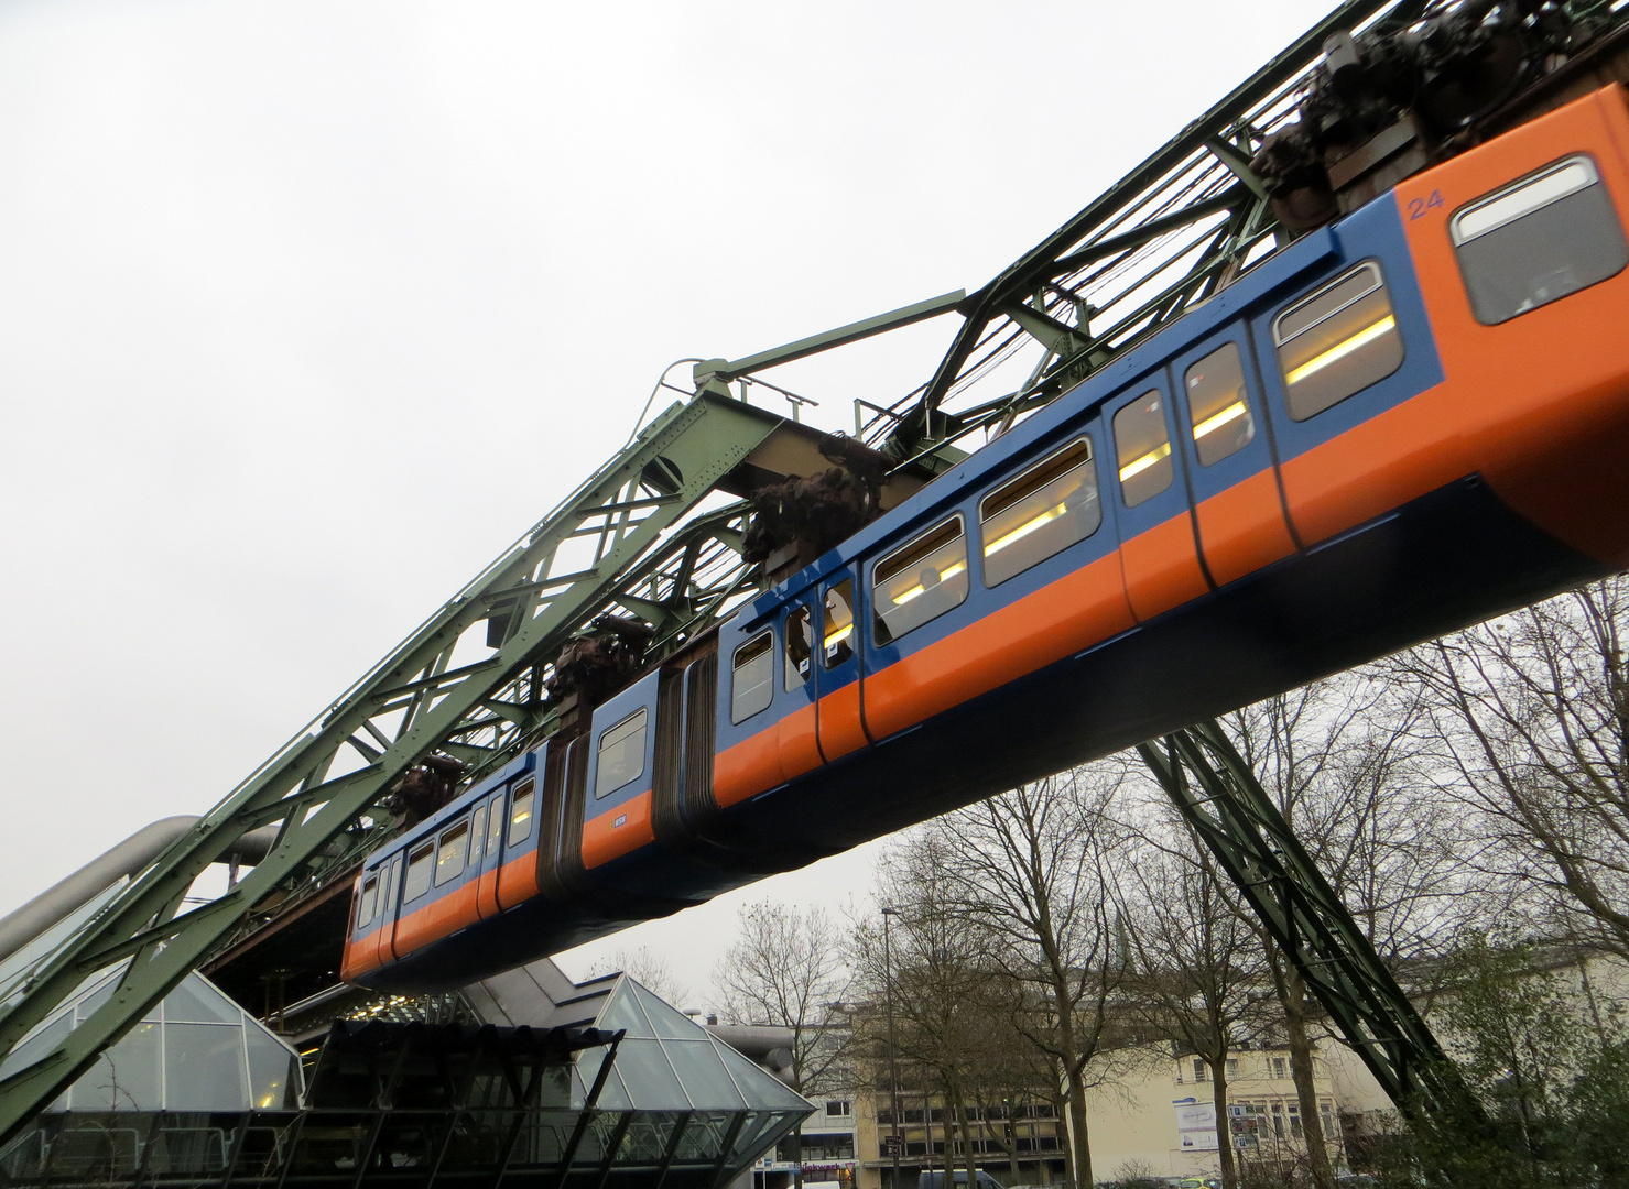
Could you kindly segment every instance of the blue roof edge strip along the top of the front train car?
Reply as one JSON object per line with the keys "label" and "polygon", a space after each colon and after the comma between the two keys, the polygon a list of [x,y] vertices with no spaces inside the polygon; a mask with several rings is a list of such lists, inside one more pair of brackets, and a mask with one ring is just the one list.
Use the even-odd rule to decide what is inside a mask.
{"label": "blue roof edge strip along the top of the front train car", "polygon": [[[1390,200],[1390,194],[1375,199]],[[955,503],[959,503],[969,487],[979,487],[994,472],[1003,471],[1015,456],[1021,456],[1047,437],[1062,433],[1064,425],[1082,412],[1096,409],[1103,401],[1117,396],[1119,391],[1142,375],[1161,366],[1166,360],[1179,355],[1184,347],[1202,339],[1236,319],[1245,309],[1271,296],[1274,290],[1284,288],[1303,274],[1337,259],[1341,252],[1341,228],[1360,212],[1347,215],[1333,226],[1319,228],[1289,248],[1266,256],[1238,280],[1202,305],[1189,311],[1176,322],[1160,329],[1147,342],[1140,342],[1119,358],[1109,362],[1101,371],[1095,371],[1080,381],[1070,393],[1083,386],[1098,389],[1085,402],[1065,404],[1070,393],[1039,409],[1033,417],[1020,422],[1008,433],[995,441],[968,454],[945,474],[933,479],[922,490],[911,495],[898,508],[872,521],[836,549],[793,573],[785,581],[772,586],[751,601],[746,627],[756,627],[777,614],[788,599],[797,598],[805,590],[818,583],[832,570],[842,568],[854,557],[865,554],[873,546],[883,544],[888,537],[909,531],[922,521],[943,515]]]}

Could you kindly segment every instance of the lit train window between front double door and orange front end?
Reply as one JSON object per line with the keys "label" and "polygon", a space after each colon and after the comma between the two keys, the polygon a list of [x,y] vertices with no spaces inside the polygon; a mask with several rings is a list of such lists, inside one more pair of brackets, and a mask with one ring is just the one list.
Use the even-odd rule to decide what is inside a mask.
{"label": "lit train window between front double door and orange front end", "polygon": [[1298,422],[1403,366],[1403,337],[1373,261],[1336,277],[1272,322],[1284,402]]}

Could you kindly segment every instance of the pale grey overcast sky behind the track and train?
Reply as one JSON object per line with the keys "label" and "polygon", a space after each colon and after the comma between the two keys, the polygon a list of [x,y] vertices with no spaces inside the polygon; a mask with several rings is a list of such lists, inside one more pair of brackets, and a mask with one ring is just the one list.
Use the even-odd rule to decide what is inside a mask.
{"label": "pale grey overcast sky behind the track and train", "polygon": [[[982,283],[1331,3],[0,5],[0,912],[204,813],[670,360]],[[837,428],[950,331],[771,378]],[[873,855],[567,964],[707,998]]]}

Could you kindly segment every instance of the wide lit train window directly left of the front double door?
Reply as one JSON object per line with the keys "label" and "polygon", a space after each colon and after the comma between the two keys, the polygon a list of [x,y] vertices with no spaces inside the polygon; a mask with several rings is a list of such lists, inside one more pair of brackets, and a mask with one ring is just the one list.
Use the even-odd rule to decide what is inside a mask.
{"label": "wide lit train window directly left of the front double door", "polygon": [[1101,523],[1091,438],[1080,438],[984,497],[984,585],[997,586],[1085,541]]}

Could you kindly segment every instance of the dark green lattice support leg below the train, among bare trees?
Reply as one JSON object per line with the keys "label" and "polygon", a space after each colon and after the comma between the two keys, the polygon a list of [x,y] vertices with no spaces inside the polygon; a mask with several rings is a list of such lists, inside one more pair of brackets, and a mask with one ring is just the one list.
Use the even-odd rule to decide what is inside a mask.
{"label": "dark green lattice support leg below the train, among bare trees", "polygon": [[1222,726],[1202,722],[1137,751],[1391,1101],[1476,1127],[1481,1106],[1453,1062]]}

